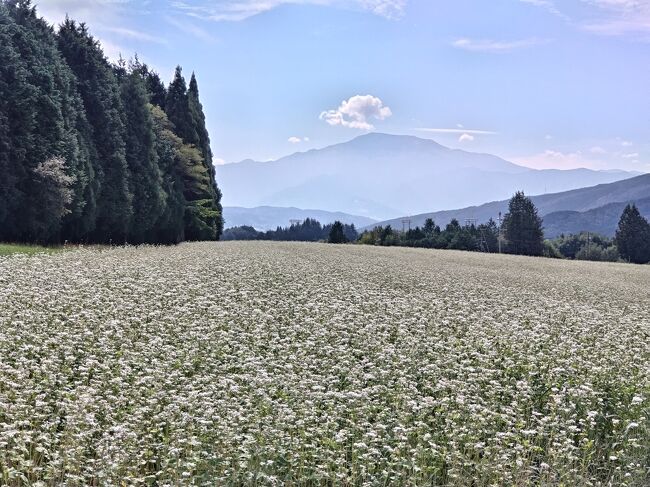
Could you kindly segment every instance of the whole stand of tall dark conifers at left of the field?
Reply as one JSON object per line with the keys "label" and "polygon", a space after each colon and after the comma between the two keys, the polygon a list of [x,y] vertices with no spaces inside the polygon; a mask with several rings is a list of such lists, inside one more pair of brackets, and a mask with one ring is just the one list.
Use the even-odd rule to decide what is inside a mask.
{"label": "whole stand of tall dark conifers at left of the field", "polygon": [[192,74],[112,65],[84,24],[0,0],[0,241],[216,240],[221,192]]}

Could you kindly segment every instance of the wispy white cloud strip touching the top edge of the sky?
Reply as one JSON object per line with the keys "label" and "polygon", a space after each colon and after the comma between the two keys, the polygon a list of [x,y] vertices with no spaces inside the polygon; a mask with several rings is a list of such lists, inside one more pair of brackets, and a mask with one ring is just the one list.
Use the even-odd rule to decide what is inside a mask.
{"label": "wispy white cloud strip touching the top edge of the sky", "polygon": [[360,8],[387,19],[398,19],[404,14],[408,0],[175,0],[171,5],[188,15],[215,21],[239,21],[268,12],[282,5],[323,5]]}

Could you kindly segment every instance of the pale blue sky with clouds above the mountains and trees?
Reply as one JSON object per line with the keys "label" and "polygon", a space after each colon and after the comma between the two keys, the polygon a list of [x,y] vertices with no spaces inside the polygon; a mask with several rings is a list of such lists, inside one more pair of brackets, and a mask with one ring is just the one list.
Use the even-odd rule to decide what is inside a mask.
{"label": "pale blue sky with clouds above the mountains and trees", "polygon": [[648,0],[40,0],[111,58],[195,71],[215,156],[375,130],[531,167],[650,172]]}

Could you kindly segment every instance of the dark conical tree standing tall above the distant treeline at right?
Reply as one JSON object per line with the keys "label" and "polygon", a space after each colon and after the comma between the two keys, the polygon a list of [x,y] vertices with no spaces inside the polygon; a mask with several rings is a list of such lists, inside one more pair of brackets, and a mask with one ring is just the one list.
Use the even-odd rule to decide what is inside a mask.
{"label": "dark conical tree standing tall above the distant treeline at right", "polygon": [[503,219],[503,235],[511,254],[542,255],[544,252],[542,219],[533,202],[521,191],[510,199]]}

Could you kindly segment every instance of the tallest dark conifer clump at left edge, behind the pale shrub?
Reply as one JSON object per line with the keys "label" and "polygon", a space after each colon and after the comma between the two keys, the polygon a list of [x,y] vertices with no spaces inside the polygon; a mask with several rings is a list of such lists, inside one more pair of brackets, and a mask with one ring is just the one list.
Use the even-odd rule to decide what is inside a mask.
{"label": "tallest dark conifer clump at left edge, behind the pale shrub", "polygon": [[0,240],[54,242],[64,238],[49,218],[49,197],[36,169],[65,161],[75,236],[94,222],[95,175],[90,128],[76,80],[57,49],[54,31],[29,1],[0,3]]}

